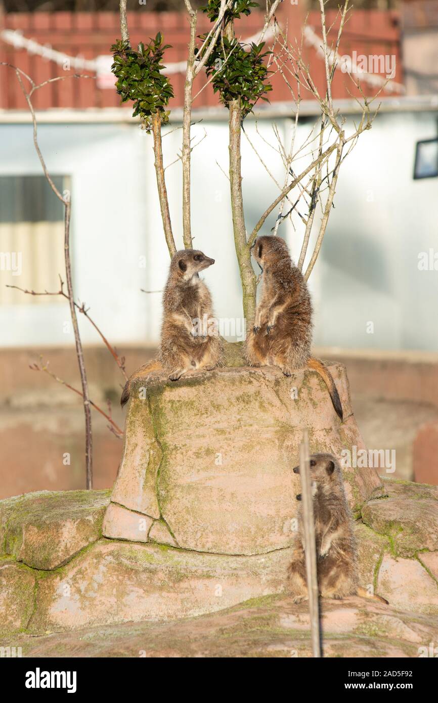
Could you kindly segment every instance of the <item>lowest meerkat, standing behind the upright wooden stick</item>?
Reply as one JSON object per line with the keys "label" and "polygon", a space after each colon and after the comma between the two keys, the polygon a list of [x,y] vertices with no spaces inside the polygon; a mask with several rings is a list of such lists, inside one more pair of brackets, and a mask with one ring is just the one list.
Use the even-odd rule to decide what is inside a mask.
{"label": "lowest meerkat, standing behind the upright wooden stick", "polygon": [[[299,466],[294,473],[299,474]],[[356,538],[353,517],[344,491],[342,471],[331,454],[314,454],[310,458],[311,489],[314,506],[316,567],[322,598],[342,600],[347,595],[361,595],[387,603],[380,595],[370,595],[359,586]],[[297,496],[301,500],[301,494]],[[288,591],[295,603],[308,599],[306,557],[302,510],[298,512],[298,531],[288,574]]]}

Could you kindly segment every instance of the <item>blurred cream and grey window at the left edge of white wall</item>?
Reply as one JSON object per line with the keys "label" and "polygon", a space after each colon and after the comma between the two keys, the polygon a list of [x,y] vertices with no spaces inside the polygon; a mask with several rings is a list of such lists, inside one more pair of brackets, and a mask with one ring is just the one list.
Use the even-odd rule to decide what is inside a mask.
{"label": "blurred cream and grey window at the left edge of white wall", "polygon": [[[61,193],[68,187],[66,176],[53,183]],[[0,304],[62,302],[6,288],[56,291],[58,273],[65,279],[62,202],[44,176],[0,176]]]}

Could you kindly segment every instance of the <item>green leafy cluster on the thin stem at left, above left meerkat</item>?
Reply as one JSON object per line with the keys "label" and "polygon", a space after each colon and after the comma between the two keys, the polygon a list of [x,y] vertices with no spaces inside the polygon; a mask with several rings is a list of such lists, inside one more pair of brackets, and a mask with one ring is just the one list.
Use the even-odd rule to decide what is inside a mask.
{"label": "green leafy cluster on the thin stem at left, above left meerkat", "polygon": [[111,70],[117,78],[117,93],[122,103],[134,102],[133,117],[140,115],[146,130],[150,131],[151,115],[161,112],[162,124],[169,122],[169,112],[165,108],[174,91],[169,79],[162,75],[162,57],[170,44],[162,44],[158,32],[146,46],[141,42],[138,51],[131,49],[129,41],[117,41],[111,46],[114,63]]}

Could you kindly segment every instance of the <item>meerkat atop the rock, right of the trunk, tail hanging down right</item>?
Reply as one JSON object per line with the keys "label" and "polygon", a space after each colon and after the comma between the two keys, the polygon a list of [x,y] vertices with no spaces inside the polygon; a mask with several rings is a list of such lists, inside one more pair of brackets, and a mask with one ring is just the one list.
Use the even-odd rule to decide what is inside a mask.
{"label": "meerkat atop the rock, right of the trunk, tail hanging down right", "polygon": [[322,361],[310,353],[312,306],[306,280],[290,258],[288,246],[277,236],[262,236],[251,247],[262,269],[262,299],[245,341],[245,358],[250,366],[278,366],[285,376],[293,370],[310,368],[328,387],[333,407],[343,419],[335,382]]}

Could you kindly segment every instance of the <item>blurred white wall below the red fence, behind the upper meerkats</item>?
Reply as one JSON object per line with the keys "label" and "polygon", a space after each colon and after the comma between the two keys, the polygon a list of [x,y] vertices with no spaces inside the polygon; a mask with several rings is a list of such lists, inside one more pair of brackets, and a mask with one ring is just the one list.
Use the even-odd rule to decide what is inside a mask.
{"label": "blurred white wall below the red fence, behind the upper meerkats", "polygon": [[[316,309],[315,342],[340,347],[437,349],[438,271],[418,271],[418,253],[438,251],[438,179],[413,181],[418,139],[436,136],[433,113],[380,115],[342,165],[335,209],[310,284]],[[278,120],[290,134],[290,120]],[[193,128],[192,202],[194,246],[216,259],[205,272],[217,315],[241,317],[240,280],[234,254],[227,171],[227,126],[202,122]],[[283,183],[278,154],[245,129],[273,175]],[[295,146],[311,129],[300,124]],[[275,144],[272,126],[259,131]],[[53,174],[72,179],[72,242],[75,292],[112,342],[154,343],[160,333],[161,295],[168,253],[162,234],[153,169],[152,138],[127,124],[41,124],[41,150]],[[165,165],[175,159],[181,131],[164,138]],[[1,125],[1,174],[38,174],[28,125]],[[243,194],[250,230],[278,191],[245,136]],[[295,162],[299,172],[305,159]],[[182,247],[181,165],[166,171],[176,244]],[[275,221],[273,214],[264,233]],[[297,259],[302,222],[280,233]],[[25,252],[23,252],[25,256]],[[141,267],[146,257],[146,269]],[[0,271],[0,285],[4,282]],[[15,285],[26,281],[15,278]],[[0,343],[65,344],[67,306],[20,304],[0,308]],[[366,323],[374,333],[366,333]],[[96,342],[81,321],[84,342]]]}

